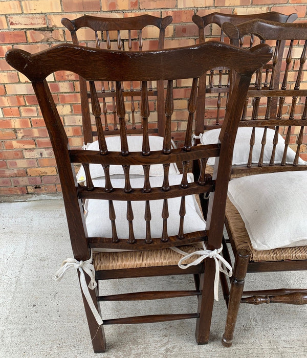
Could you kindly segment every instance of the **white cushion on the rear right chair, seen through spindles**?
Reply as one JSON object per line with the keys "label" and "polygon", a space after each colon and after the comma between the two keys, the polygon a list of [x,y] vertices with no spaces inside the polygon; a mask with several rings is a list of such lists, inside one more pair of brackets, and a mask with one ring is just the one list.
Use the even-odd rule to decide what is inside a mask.
{"label": "white cushion on the rear right chair, seen through spindles", "polygon": [[[203,133],[201,137],[202,144],[214,144],[218,142],[218,136],[220,136],[221,129],[211,129]],[[252,128],[240,127],[238,128],[235,144],[233,148],[232,164],[243,165],[247,164],[248,156],[250,151],[250,138]],[[261,140],[264,134],[264,128],[255,128],[255,144],[253,146],[252,163],[258,163],[261,151]],[[264,164],[270,163],[273,138],[275,130],[267,129],[267,141],[264,151]],[[281,163],[284,149],[284,139],[281,135],[278,135],[278,143],[275,149],[275,163]],[[293,149],[288,147],[286,163],[292,164],[295,158],[295,152]],[[208,164],[214,165],[215,158],[209,158]],[[301,158],[298,161],[299,164],[306,164]]]}

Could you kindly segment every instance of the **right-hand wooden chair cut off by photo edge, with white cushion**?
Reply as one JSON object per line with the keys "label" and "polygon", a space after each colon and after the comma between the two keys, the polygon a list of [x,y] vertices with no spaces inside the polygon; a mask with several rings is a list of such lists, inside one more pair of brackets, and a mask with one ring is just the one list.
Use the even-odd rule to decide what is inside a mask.
{"label": "right-hand wooden chair cut off by photo edge, with white cushion", "polygon": [[[307,229],[304,217],[307,207],[303,201],[307,165],[300,158],[307,144],[304,135],[307,87],[302,82],[307,24],[252,20],[238,26],[224,24],[223,31],[236,46],[243,36],[252,34],[255,41],[257,38],[262,43],[269,42],[274,52],[272,69],[266,74],[260,70],[262,76],[258,75],[258,87],[248,92],[249,103],[246,103],[239,123],[242,128],[238,128],[236,141],[240,130],[245,133],[242,132],[237,148],[234,147],[231,170],[234,179],[229,184],[225,217],[235,256],[230,293],[227,280],[222,278],[228,304],[222,342],[229,347],[240,303],[307,303],[307,289],[243,292],[245,276],[249,272],[307,269],[307,241],[302,240],[305,234],[300,234]],[[279,44],[285,41],[286,48],[281,50]],[[280,74],[275,71],[278,62],[281,62]],[[277,86],[275,79],[279,83]],[[277,113],[271,110],[274,98]],[[223,255],[230,262],[226,245]]]}

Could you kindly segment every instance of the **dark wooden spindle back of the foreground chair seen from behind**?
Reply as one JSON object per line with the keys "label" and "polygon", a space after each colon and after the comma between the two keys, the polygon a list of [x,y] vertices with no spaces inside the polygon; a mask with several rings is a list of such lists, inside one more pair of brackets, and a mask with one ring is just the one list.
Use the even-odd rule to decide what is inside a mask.
{"label": "dark wooden spindle back of the foreground chair seen from behind", "polygon": [[[8,63],[32,82],[42,116],[49,132],[50,140],[57,162],[65,210],[74,257],[84,260],[89,257],[89,248],[150,250],[174,247],[208,239],[208,249],[220,247],[223,234],[224,211],[227,196],[227,185],[230,174],[232,148],[236,130],[252,74],[264,65],[272,56],[266,44],[261,44],[251,51],[239,49],[220,42],[204,43],[188,48],[164,51],[123,52],[118,50],[102,50],[60,44],[51,49],[31,55],[25,51],[12,49],[6,54]],[[190,65],[193,64],[193,65]],[[215,66],[227,66],[235,71],[233,91],[229,98],[227,113],[220,138],[212,145],[193,146],[192,133],[194,113],[197,104],[198,79]],[[58,108],[50,92],[46,78],[56,71],[71,71],[88,82],[91,91],[92,111],[97,128],[98,150],[70,149],[65,127],[61,121]],[[174,111],[173,83],[190,79],[189,100],[185,109],[186,129],[184,144],[181,148],[171,146],[172,132],[177,130],[173,125]],[[119,118],[120,150],[110,151],[107,144],[107,130],[101,120],[101,102],[99,101],[96,83],[101,81],[115,83],[115,100]],[[140,114],[142,117],[142,143],[138,151],[129,149],[127,134],[125,97],[122,83],[140,81],[142,83]],[[149,81],[167,81],[164,104],[164,133],[160,150],[151,150],[149,128],[151,125],[150,106],[148,100]],[[186,82],[185,82],[186,83]],[[111,137],[112,138],[112,137]],[[213,177],[206,174],[207,158],[218,157],[215,162]],[[188,168],[192,161],[201,163],[200,175],[189,179]],[[180,182],[173,184],[169,170],[174,163],[182,164]],[[76,183],[75,164],[82,164],[86,175],[86,185]],[[103,168],[104,178],[100,185],[95,185],[91,177],[89,165],[99,164]],[[151,185],[150,166],[162,166],[161,184]],[[113,186],[110,166],[123,168],[123,186]],[[131,185],[130,170],[142,166],[141,187]],[[101,182],[100,182],[101,183]],[[186,199],[190,195],[213,192],[210,196],[210,209],[206,230],[185,231]],[[172,198],[179,198],[179,205],[169,206]],[[106,210],[101,217],[110,222],[109,235],[89,237],[85,226],[82,200],[99,199],[106,203]],[[161,232],[160,237],[151,235],[152,229],[158,225],[151,222],[152,203],[160,200]],[[125,225],[117,222],[115,202],[126,206],[126,237],[117,234],[118,227]],[[143,225],[144,237],[136,239],[134,227],[133,202],[144,203]],[[175,233],[169,232],[169,211],[176,211],[178,225]],[[86,216],[86,213],[85,213]],[[99,220],[97,220],[99,223]]]}

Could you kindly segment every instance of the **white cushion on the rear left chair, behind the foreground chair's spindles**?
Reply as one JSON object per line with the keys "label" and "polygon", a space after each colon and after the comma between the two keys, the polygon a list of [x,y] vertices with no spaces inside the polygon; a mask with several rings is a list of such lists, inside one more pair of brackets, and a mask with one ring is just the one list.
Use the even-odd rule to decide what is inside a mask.
{"label": "white cushion on the rear left chair, behind the foreground chair's spindles", "polygon": [[[120,136],[106,137],[106,145],[109,151],[121,151],[120,145]],[[142,150],[142,136],[128,136],[128,148],[129,151],[141,151]],[[149,136],[149,146],[150,150],[162,150],[163,137],[158,136]],[[173,148],[176,148],[175,144],[172,141]],[[87,144],[87,150],[99,150],[98,141]],[[104,171],[100,164],[90,164],[90,172],[92,179],[98,177],[104,177]],[[124,175],[124,171],[121,165],[110,165],[109,168],[110,175]],[[130,172],[131,175],[144,175],[144,170],[141,165],[131,165]],[[175,163],[171,163],[169,166],[169,175],[179,174],[179,170]],[[160,176],[163,175],[163,165],[162,164],[153,164],[150,166],[149,171],[150,176]],[[83,166],[80,167],[77,173],[78,183],[85,181],[85,172]]]}

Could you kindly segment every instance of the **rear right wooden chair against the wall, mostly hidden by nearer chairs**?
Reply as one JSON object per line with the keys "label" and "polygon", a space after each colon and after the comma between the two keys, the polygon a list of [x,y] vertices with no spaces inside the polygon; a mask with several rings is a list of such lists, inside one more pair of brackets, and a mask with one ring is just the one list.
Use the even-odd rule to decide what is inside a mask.
{"label": "rear right wooden chair against the wall, mostly hidden by nearer chairs", "polygon": [[[230,23],[233,25],[239,25],[245,23],[246,21],[255,19],[263,19],[270,21],[278,21],[280,23],[293,23],[297,19],[297,14],[284,15],[279,12],[265,12],[260,14],[250,14],[250,15],[231,15],[213,12],[205,16],[193,15],[192,20],[199,28],[199,42],[205,42],[206,38],[214,39],[214,37],[219,37],[222,42],[229,43],[229,39],[226,37],[224,31],[222,30],[222,25],[224,23]],[[214,29],[212,26],[211,31],[206,36],[206,30],[210,25],[217,25],[214,29],[217,30],[217,27],[221,28],[220,35],[217,33],[214,34]],[[205,30],[206,29],[206,30]],[[241,39],[243,40],[243,39]],[[253,46],[253,36],[249,39],[250,46]],[[240,42],[242,46],[243,42]],[[282,44],[280,44],[282,46]],[[277,69],[276,69],[277,70]],[[266,71],[266,68],[264,69]],[[197,110],[197,120],[199,127],[195,128],[196,135],[202,133],[205,130],[218,128],[223,122],[225,115],[225,108],[227,106],[228,94],[230,88],[230,71],[228,69],[214,69],[210,71],[210,74],[206,74],[199,81],[199,91],[204,95],[201,97],[201,100],[198,103]],[[207,103],[207,104],[206,104]],[[203,121],[202,121],[203,119]]]}

